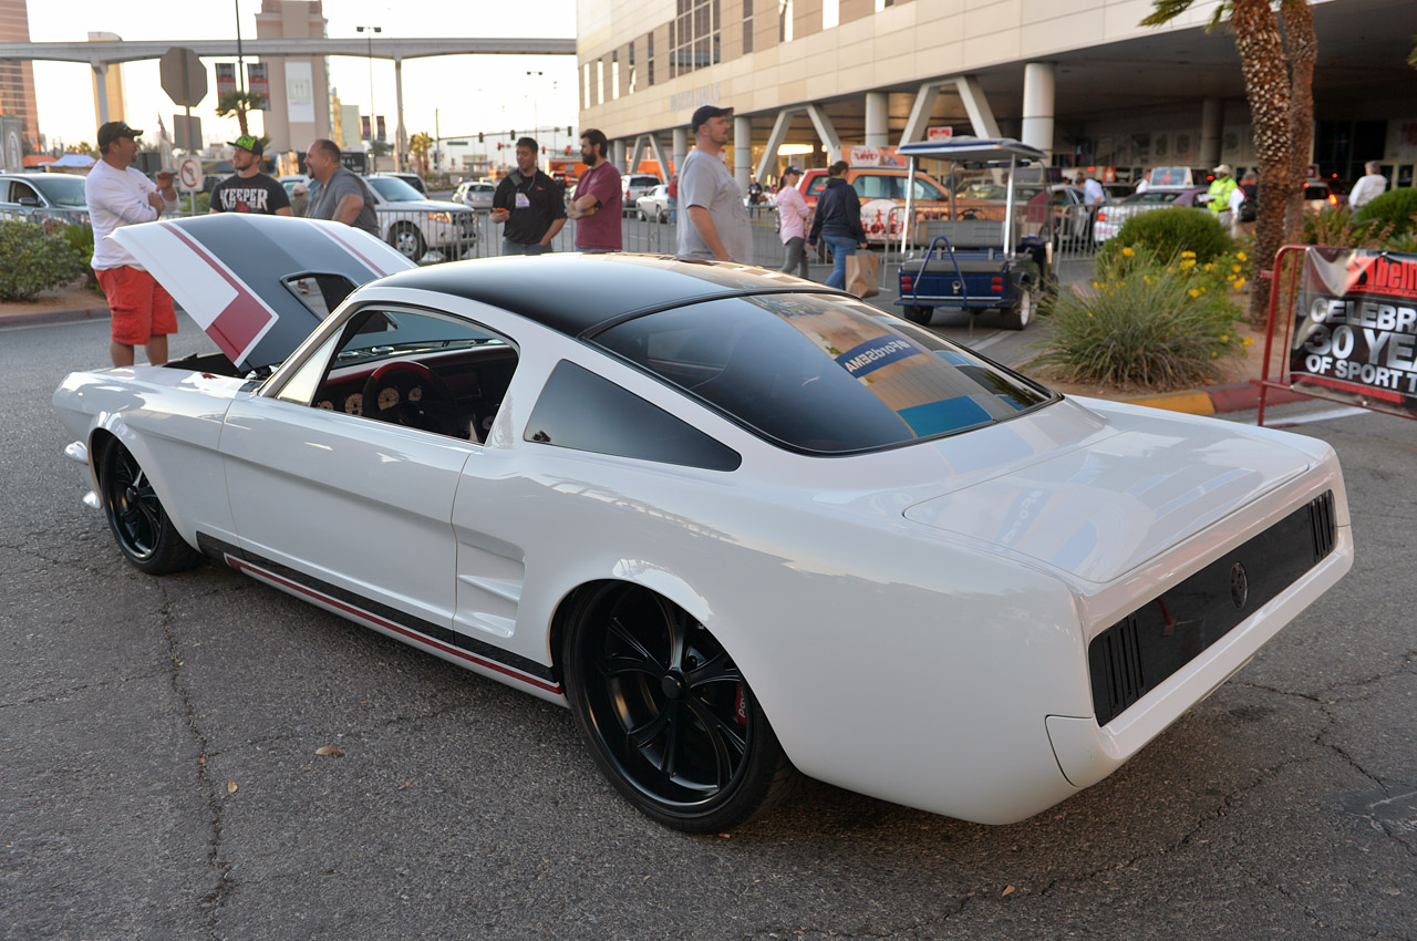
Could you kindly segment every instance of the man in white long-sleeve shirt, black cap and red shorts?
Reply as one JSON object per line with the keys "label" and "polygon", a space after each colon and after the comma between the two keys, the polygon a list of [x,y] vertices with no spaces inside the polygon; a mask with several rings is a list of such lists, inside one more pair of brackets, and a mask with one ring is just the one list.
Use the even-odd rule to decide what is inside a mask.
{"label": "man in white long-sleeve shirt, black cap and red shorts", "polygon": [[136,346],[147,350],[149,363],[162,366],[167,361],[167,334],[177,333],[171,296],[128,249],[108,238],[119,227],[152,222],[164,210],[177,207],[176,174],[171,170],[160,171],[153,186],[130,166],[142,135],[122,120],[99,128],[98,152],[102,159],[84,183],[89,221],[94,224],[94,261],[89,264],[112,312],[113,339],[108,353],[113,366],[132,366]]}

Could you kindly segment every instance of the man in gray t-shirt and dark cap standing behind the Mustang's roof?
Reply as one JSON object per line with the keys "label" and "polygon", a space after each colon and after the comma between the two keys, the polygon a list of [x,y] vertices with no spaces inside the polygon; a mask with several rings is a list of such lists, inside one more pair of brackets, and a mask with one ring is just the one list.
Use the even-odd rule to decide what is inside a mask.
{"label": "man in gray t-shirt and dark cap standing behind the Mustang's roof", "polygon": [[679,257],[752,262],[752,228],[743,190],[723,164],[733,126],[731,108],[704,105],[694,112],[696,149],[679,171]]}

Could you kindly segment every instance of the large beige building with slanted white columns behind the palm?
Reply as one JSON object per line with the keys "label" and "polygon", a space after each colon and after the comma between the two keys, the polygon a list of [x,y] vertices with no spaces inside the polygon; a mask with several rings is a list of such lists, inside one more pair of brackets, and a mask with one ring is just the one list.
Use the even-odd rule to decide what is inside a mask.
{"label": "large beige building with slanted white columns behind the palm", "polygon": [[[1214,3],[1142,27],[1151,0],[580,0],[580,119],[616,153],[682,156],[704,103],[735,109],[733,167],[772,176],[853,145],[1005,135],[1122,174],[1255,162],[1234,37]],[[1411,0],[1314,0],[1314,160],[1411,184]],[[798,156],[801,154],[801,156]]]}

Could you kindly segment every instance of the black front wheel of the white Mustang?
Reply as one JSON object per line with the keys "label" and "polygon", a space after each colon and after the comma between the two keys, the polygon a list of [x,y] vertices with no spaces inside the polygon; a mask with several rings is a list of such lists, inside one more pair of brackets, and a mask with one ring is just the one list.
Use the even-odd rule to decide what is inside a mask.
{"label": "black front wheel of the white Mustang", "polygon": [[167,575],[201,563],[201,553],[177,534],[147,475],[128,448],[115,441],[103,449],[98,479],[108,529],[135,568],[149,575]]}

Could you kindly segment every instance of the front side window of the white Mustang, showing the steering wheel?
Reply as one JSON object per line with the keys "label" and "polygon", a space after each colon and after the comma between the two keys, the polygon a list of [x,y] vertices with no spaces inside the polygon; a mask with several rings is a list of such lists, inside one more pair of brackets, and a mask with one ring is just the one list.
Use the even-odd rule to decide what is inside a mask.
{"label": "front side window of the white Mustang, showing the steering wheel", "polygon": [[[480,325],[438,313],[366,308],[339,334],[307,401],[374,421],[480,442],[492,428],[517,350]],[[289,384],[309,388],[302,370]],[[285,390],[281,398],[286,398]]]}

